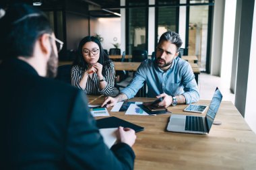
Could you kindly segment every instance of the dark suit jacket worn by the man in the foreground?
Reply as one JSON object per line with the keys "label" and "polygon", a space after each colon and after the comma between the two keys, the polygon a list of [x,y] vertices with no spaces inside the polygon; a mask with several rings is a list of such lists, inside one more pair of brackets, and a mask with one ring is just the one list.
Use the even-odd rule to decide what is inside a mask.
{"label": "dark suit jacket worn by the man in the foreground", "polygon": [[0,169],[133,169],[129,145],[104,144],[83,91],[18,59],[0,80]]}

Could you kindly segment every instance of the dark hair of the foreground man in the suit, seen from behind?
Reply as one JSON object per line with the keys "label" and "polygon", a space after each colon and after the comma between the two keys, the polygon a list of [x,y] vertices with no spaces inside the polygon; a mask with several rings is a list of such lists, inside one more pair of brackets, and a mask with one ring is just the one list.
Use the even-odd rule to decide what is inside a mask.
{"label": "dark hair of the foreground man in the suit, seen from behind", "polygon": [[10,5],[0,19],[0,26],[1,58],[30,57],[36,40],[42,34],[53,33],[46,15],[25,3]]}

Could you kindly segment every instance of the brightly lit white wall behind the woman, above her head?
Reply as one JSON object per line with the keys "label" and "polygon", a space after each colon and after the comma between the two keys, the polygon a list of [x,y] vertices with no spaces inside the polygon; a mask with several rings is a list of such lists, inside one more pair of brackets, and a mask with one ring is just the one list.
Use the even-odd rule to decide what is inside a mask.
{"label": "brightly lit white wall behind the woman, above her head", "polygon": [[[99,34],[103,38],[101,43],[104,49],[109,51],[110,48],[115,48],[113,44],[121,44],[121,18],[100,17],[96,19],[94,22],[94,28],[91,26],[90,34],[91,36]],[[115,41],[114,38],[117,38],[117,41]],[[121,52],[123,52],[123,50],[121,50]]]}

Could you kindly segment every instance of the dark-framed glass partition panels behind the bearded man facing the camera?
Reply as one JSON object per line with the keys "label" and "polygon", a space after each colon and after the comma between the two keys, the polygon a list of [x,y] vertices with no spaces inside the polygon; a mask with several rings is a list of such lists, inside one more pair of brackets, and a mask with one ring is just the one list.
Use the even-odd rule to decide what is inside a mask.
{"label": "dark-framed glass partition panels behind the bearded man facing the camera", "polygon": [[[125,1],[125,50],[148,50],[148,42],[158,43],[166,31],[183,30],[183,55],[197,56],[201,71],[210,73],[210,46],[214,0],[158,0],[149,5],[146,0]],[[154,7],[154,33],[148,32],[148,11]],[[181,7],[186,8],[181,10]],[[181,22],[181,21],[185,22]],[[179,24],[182,24],[179,26]],[[154,40],[148,40],[154,34]]]}

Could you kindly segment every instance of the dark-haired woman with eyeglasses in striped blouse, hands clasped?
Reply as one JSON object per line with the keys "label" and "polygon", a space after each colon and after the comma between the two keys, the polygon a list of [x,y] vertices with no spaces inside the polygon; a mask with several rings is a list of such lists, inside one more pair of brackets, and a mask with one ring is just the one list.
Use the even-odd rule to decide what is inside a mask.
{"label": "dark-haired woman with eyeglasses in striped blouse, hands clasped", "polygon": [[104,52],[98,38],[86,36],[79,43],[71,68],[71,84],[88,95],[111,95],[114,83],[114,63]]}

